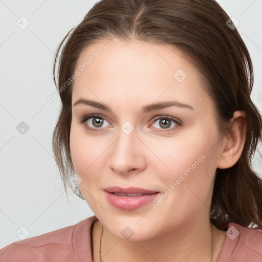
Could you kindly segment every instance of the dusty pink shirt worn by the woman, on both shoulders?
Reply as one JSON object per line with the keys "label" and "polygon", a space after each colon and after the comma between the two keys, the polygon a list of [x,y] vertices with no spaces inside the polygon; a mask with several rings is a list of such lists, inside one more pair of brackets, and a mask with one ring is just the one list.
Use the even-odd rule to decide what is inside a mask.
{"label": "dusty pink shirt worn by the woman, on both shoulders", "polygon": [[[91,228],[97,220],[94,215],[76,225],[16,241],[0,250],[0,261],[93,262]],[[261,261],[261,230],[230,223],[226,241],[216,262]]]}

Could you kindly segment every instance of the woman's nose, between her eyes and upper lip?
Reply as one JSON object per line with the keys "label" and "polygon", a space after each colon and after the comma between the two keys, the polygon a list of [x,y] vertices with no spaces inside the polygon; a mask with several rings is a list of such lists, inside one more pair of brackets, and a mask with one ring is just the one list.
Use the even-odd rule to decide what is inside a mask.
{"label": "woman's nose, between her eyes and upper lip", "polygon": [[130,134],[123,130],[119,130],[117,139],[110,147],[108,166],[121,175],[141,172],[146,167],[146,146],[139,139],[136,129]]}

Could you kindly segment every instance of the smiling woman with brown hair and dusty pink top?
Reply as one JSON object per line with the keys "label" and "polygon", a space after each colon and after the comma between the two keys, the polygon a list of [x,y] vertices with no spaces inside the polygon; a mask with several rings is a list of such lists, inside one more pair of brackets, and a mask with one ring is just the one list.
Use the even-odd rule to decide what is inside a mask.
{"label": "smiling woman with brown hair and dusty pink top", "polygon": [[262,119],[219,4],[102,0],[62,40],[54,80],[57,62],[53,150],[95,215],[2,261],[262,261]]}

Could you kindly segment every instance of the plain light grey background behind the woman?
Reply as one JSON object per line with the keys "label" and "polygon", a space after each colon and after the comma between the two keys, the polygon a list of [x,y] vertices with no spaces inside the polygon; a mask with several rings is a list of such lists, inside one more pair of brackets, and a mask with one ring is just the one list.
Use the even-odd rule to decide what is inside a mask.
{"label": "plain light grey background behind the woman", "polygon": [[[85,201],[65,195],[51,143],[60,98],[51,103],[47,97],[56,91],[52,78],[56,48],[96,2],[0,1],[0,248],[19,241],[18,232],[23,232],[21,237],[28,231],[27,237],[37,236],[94,215]],[[262,0],[219,3],[240,22],[237,30],[254,65],[252,99],[261,112]],[[16,25],[21,19],[26,25],[21,16],[30,22],[25,30]],[[24,135],[16,129],[21,121],[29,126]],[[258,151],[253,164],[261,174]]]}

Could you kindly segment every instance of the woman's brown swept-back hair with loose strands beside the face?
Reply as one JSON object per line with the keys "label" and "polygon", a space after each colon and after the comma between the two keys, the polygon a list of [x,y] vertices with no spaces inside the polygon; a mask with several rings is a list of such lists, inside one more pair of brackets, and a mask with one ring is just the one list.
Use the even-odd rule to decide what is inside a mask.
{"label": "woman's brown swept-back hair with loose strands beside the face", "polygon": [[[205,89],[214,101],[221,136],[228,131],[227,123],[235,111],[243,110],[247,115],[241,157],[230,168],[216,169],[211,222],[221,230],[226,230],[229,222],[245,227],[253,223],[262,229],[262,180],[251,168],[261,140],[262,118],[250,98],[251,58],[237,30],[228,26],[229,19],[213,0],[102,0],[65,35],[54,58],[54,81],[62,107],[52,142],[66,192],[68,186],[72,188],[69,178],[74,173],[70,155],[73,82],[67,81],[74,74],[81,51],[99,39],[113,36],[169,44],[189,55],[207,80]],[[68,86],[61,89],[65,82]],[[76,188],[74,193],[84,199]]]}

